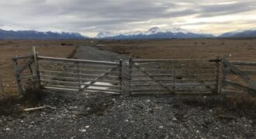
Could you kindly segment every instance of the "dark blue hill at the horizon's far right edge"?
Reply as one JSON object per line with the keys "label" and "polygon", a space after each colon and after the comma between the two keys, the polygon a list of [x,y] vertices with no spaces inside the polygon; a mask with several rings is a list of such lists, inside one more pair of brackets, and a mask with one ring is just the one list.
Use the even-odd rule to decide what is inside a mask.
{"label": "dark blue hill at the horizon's far right edge", "polygon": [[227,33],[223,33],[219,37],[220,38],[254,38],[256,37],[256,29],[227,32]]}

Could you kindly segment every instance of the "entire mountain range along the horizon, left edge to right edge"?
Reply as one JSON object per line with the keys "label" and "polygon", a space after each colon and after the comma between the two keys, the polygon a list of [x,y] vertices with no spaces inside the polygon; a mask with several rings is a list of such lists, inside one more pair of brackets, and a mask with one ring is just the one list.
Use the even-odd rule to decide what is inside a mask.
{"label": "entire mountain range along the horizon, left edge to right edge", "polygon": [[[181,28],[151,28],[145,32],[112,33],[99,32],[95,39],[172,39],[172,38],[250,38],[256,37],[256,29],[226,32],[220,36],[190,32]],[[0,29],[0,39],[88,39],[77,32],[37,32],[34,30],[12,31]]]}

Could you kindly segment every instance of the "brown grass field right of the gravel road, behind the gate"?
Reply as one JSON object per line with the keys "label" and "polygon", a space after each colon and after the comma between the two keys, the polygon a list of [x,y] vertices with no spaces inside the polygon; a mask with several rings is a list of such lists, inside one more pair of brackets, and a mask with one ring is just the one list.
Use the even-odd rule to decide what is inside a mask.
{"label": "brown grass field right of the gravel road, behind the gate", "polygon": [[216,58],[256,60],[256,39],[164,39],[102,41],[109,49],[143,59]]}

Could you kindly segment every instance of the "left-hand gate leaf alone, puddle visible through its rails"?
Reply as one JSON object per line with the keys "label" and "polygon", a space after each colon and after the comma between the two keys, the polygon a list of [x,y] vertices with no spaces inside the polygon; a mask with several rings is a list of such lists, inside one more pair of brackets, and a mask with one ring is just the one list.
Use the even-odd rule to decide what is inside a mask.
{"label": "left-hand gate leaf alone, puddle visible through its rails", "polygon": [[122,60],[118,63],[37,57],[45,89],[122,94]]}

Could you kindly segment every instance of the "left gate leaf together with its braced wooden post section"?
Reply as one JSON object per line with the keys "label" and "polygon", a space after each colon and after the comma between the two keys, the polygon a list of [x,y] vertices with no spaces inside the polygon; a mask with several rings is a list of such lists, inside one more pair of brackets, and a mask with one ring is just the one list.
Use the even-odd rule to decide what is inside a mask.
{"label": "left gate leaf together with its braced wooden post section", "polygon": [[83,59],[63,59],[29,56],[13,59],[19,93],[27,89],[80,91],[86,93],[123,93],[122,59],[106,62]]}

